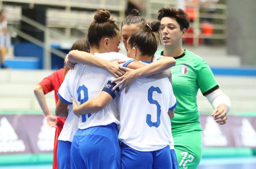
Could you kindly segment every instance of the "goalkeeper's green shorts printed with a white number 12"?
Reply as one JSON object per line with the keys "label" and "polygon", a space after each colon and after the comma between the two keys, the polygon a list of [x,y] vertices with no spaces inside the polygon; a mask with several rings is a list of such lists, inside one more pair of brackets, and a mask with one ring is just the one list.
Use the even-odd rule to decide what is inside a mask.
{"label": "goalkeeper's green shorts printed with a white number 12", "polygon": [[173,134],[179,169],[197,169],[202,158],[202,131]]}

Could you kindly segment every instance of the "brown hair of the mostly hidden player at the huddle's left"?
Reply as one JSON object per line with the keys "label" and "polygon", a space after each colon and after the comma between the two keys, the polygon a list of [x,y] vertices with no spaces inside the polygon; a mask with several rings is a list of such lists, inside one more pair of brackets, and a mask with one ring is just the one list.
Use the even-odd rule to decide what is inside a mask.
{"label": "brown hair of the mostly hidden player at the huddle's left", "polygon": [[[76,42],[74,42],[74,44],[72,45],[70,51],[72,50],[78,50],[78,51],[84,51],[84,52],[90,52],[90,45],[88,40],[84,40],[84,39],[80,39],[77,40]],[[64,73],[63,73],[63,77],[66,76],[67,72],[69,71],[69,67],[67,67],[67,65],[64,65]]]}

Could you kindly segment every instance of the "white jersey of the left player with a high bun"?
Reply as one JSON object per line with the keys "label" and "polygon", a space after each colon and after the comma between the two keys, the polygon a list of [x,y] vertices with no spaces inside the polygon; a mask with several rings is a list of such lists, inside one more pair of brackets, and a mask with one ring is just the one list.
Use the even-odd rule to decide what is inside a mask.
{"label": "white jersey of the left player with a high bun", "polygon": [[[102,54],[95,53],[95,56],[108,61],[124,60],[126,62],[123,66],[134,61],[131,58],[116,52]],[[59,87],[58,96],[61,100],[69,104],[72,104],[71,98],[74,98],[76,103],[80,105],[88,99],[98,96],[103,87],[113,79],[114,77],[104,69],[100,69],[99,67],[92,65],[77,64],[74,69],[70,70],[65,76],[63,83]],[[114,99],[113,102],[97,113],[82,115],[78,122],[76,122],[76,120],[71,120],[70,118],[70,120],[66,120],[65,123],[72,123],[70,126],[76,129],[77,126],[79,129],[86,129],[93,126],[108,125],[111,123],[119,124],[117,115],[117,99]],[[76,118],[73,113],[72,117]],[[74,133],[66,133],[68,130],[64,129],[64,127],[63,130],[65,130],[65,134],[70,135],[70,137],[74,135]],[[63,130],[61,132],[63,132]]]}

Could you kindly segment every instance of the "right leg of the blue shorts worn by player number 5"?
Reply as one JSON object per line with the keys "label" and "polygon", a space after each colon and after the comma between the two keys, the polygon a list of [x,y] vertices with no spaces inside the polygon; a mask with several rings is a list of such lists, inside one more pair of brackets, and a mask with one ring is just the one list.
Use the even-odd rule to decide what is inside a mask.
{"label": "right leg of the blue shorts worn by player number 5", "polygon": [[152,169],[172,169],[170,146],[153,151],[153,160]]}

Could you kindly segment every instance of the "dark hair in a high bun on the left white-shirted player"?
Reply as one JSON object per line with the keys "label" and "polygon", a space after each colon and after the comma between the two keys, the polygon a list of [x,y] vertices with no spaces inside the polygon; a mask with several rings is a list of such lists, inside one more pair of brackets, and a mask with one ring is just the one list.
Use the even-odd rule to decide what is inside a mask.
{"label": "dark hair in a high bun on the left white-shirted player", "polygon": [[93,16],[94,20],[88,29],[88,41],[90,46],[99,47],[101,38],[113,38],[119,28],[115,24],[115,18],[110,18],[109,11],[98,9]]}

